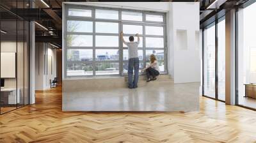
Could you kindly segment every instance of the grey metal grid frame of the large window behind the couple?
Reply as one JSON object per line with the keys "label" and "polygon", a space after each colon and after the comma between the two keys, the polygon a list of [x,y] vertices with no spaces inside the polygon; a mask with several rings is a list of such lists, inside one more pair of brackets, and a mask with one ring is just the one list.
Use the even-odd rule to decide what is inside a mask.
{"label": "grey metal grid frame of the large window behind the couple", "polygon": [[[68,16],[68,9],[69,8],[78,8],[78,9],[88,9],[92,10],[92,17],[75,17],[75,16]],[[96,19],[95,18],[95,10],[116,10],[118,11],[118,20],[113,19]],[[132,20],[122,20],[122,11],[131,11],[131,12],[140,12],[142,13],[142,21],[132,21]],[[163,15],[163,22],[155,22],[155,21],[146,21],[146,15]],[[114,75],[120,75],[124,76],[127,75],[127,73],[124,73],[124,67],[123,64],[127,62],[127,60],[123,59],[123,50],[127,49],[127,47],[123,47],[123,43],[120,40],[120,31],[123,31],[123,25],[139,25],[143,27],[143,33],[140,34],[140,37],[143,38],[140,42],[143,43],[143,47],[139,47],[139,50],[143,50],[143,60],[140,60],[140,62],[143,62],[143,66],[146,66],[147,59],[146,59],[146,50],[164,50],[164,72],[160,72],[161,74],[167,74],[168,68],[167,68],[167,38],[166,38],[166,13],[163,12],[155,12],[155,11],[140,11],[140,10],[127,10],[127,9],[121,9],[121,8],[102,8],[99,6],[77,6],[76,4],[65,4],[65,28],[64,28],[64,42],[63,45],[65,45],[65,49],[63,50],[63,57],[65,60],[64,64],[64,78],[72,78],[72,77],[93,77],[93,76],[99,76],[96,75],[95,72],[95,66],[97,63],[118,63],[119,64],[119,73]],[[73,32],[67,32],[67,21],[68,20],[82,20],[82,21],[92,21],[93,22],[93,32],[92,33],[73,33]],[[96,22],[113,22],[118,23],[118,33],[96,33]],[[157,27],[163,27],[163,36],[159,35],[146,35],[145,34],[145,27],[146,26],[157,26]],[[93,36],[93,45],[92,47],[67,47],[67,35],[68,34],[81,34],[81,35],[92,35]],[[118,36],[118,47],[96,47],[95,43],[95,36]],[[124,34],[124,36],[134,36],[134,34]],[[164,47],[163,48],[147,48],[145,47],[145,40],[146,37],[152,37],[152,38],[163,38],[164,40]],[[67,76],[67,49],[92,49],[93,50],[93,60],[92,61],[85,61],[85,63],[93,63],[93,75],[72,75]],[[119,60],[118,61],[97,61],[96,60],[96,49],[118,49],[119,50]],[[141,74],[141,73],[140,73]],[[110,76],[109,74],[106,74]],[[102,76],[102,75],[100,75]]]}

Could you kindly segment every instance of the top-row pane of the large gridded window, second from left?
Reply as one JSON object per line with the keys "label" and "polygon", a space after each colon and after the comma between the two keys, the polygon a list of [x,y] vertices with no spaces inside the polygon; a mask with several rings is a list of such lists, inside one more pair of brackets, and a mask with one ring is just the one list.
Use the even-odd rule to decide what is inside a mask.
{"label": "top-row pane of the large gridded window, second from left", "polygon": [[118,11],[116,10],[95,10],[96,19],[118,20]]}

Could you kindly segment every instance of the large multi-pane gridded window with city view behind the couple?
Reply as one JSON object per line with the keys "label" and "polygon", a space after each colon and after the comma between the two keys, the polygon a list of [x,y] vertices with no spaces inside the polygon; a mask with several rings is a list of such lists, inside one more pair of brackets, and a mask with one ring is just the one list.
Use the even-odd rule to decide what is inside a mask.
{"label": "large multi-pane gridded window with city view behind the couple", "polygon": [[66,77],[127,74],[128,51],[121,31],[125,41],[140,34],[140,69],[155,54],[160,72],[167,73],[164,13],[74,5],[66,10]]}

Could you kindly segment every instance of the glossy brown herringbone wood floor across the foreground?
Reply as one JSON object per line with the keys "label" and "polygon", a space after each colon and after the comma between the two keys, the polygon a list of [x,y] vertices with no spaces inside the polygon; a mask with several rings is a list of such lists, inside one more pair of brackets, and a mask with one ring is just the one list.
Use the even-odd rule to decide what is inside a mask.
{"label": "glossy brown herringbone wood floor across the foreground", "polygon": [[200,98],[199,112],[61,112],[61,88],[0,116],[0,142],[256,142],[256,112]]}

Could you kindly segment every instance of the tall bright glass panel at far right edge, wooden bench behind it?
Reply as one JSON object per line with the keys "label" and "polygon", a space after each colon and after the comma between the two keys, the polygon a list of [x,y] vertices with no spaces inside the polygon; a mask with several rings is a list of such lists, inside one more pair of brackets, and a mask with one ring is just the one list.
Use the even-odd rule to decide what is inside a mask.
{"label": "tall bright glass panel at far right edge, wooden bench behind it", "polygon": [[256,109],[256,3],[237,11],[237,104]]}

